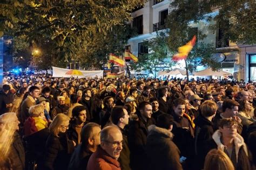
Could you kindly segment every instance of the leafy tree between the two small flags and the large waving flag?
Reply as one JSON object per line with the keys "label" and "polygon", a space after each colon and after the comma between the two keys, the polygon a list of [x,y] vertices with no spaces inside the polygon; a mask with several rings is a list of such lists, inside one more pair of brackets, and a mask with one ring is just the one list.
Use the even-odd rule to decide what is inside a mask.
{"label": "leafy tree between the two small flags and the large waving flag", "polygon": [[[149,48],[149,53],[140,55],[138,62],[131,62],[131,68],[137,71],[148,70],[156,76],[157,66],[172,56],[167,40],[168,32],[166,30],[158,31],[156,37],[144,40],[143,45]],[[173,64],[173,62],[169,63],[169,67]]]}

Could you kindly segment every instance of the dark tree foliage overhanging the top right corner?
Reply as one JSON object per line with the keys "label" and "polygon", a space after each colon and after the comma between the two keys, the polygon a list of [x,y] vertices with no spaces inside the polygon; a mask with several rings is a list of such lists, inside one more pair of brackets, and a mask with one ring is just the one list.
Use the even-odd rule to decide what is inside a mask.
{"label": "dark tree foliage overhanging the top right corner", "polygon": [[[172,26],[174,30],[187,29],[188,24],[198,23],[199,20],[215,20],[212,29],[215,31],[220,27],[223,30],[223,39],[228,38],[237,44],[256,43],[255,1],[175,0],[170,8],[172,11],[169,19],[177,21]],[[211,12],[215,15],[207,15]]]}

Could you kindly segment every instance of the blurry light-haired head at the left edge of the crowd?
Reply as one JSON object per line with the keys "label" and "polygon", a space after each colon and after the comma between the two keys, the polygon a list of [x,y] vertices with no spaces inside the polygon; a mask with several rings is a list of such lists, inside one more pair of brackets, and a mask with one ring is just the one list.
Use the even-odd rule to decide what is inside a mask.
{"label": "blurry light-haired head at the left edge of the crowd", "polygon": [[9,133],[19,130],[19,121],[16,113],[7,112],[0,116],[0,128],[8,130]]}

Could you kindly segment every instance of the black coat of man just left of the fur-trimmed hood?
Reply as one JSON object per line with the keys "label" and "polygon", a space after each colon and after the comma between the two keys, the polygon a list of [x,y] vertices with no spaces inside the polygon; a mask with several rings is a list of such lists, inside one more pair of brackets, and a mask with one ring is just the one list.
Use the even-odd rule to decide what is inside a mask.
{"label": "black coat of man just left of the fur-trimmed hood", "polygon": [[128,133],[128,145],[130,148],[131,168],[145,169],[145,147],[147,141],[147,126],[152,125],[151,119],[145,123],[141,117],[139,121],[130,121]]}

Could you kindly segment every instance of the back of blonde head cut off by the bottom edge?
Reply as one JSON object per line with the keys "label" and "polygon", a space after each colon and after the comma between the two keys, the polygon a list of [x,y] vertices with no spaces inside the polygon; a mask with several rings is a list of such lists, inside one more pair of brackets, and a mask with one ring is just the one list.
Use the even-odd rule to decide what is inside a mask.
{"label": "back of blonde head cut off by the bottom edge", "polygon": [[226,153],[213,149],[206,155],[204,170],[234,170],[234,166]]}

